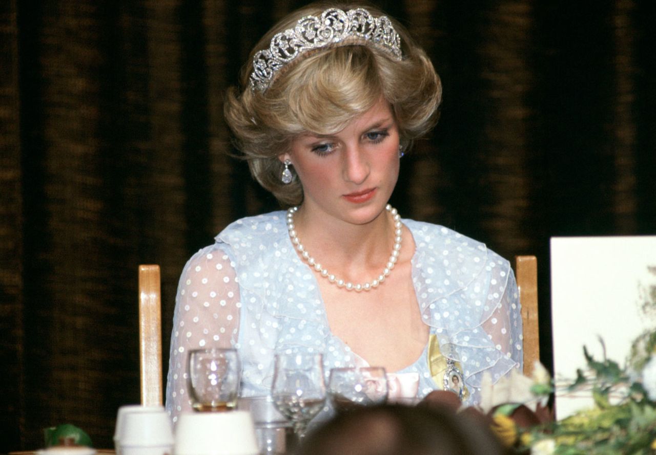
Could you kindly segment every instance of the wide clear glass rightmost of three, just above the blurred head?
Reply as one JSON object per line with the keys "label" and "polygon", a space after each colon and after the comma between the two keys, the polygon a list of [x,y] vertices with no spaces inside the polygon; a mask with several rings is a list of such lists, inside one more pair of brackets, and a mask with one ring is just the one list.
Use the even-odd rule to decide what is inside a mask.
{"label": "wide clear glass rightmost of three, just above the blurred head", "polygon": [[338,412],[387,401],[387,375],[383,367],[333,368],[328,395]]}

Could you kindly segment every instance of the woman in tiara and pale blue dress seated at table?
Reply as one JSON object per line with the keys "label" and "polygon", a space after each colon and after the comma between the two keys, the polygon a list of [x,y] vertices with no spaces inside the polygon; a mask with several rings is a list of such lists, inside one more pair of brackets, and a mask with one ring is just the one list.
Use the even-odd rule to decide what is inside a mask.
{"label": "woman in tiara and pale blue dress seated at table", "polygon": [[276,352],[322,352],[326,371],[379,365],[396,397],[521,365],[508,262],[387,206],[400,157],[436,122],[441,86],[398,22],[315,4],[255,46],[225,115],[257,181],[285,206],[232,223],[185,266],[167,408],[189,408],[187,351],[235,346],[242,395],[266,395]]}

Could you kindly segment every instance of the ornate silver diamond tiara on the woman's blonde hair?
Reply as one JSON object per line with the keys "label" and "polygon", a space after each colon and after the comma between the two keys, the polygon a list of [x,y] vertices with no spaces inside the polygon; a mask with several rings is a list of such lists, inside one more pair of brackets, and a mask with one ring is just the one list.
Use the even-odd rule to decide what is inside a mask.
{"label": "ornate silver diamond tiara on the woman's blonde hair", "polygon": [[308,50],[366,41],[401,60],[401,38],[387,16],[375,18],[365,9],[327,9],[321,16],[304,16],[294,28],[277,33],[268,49],[253,56],[251,89],[264,92],[280,69]]}

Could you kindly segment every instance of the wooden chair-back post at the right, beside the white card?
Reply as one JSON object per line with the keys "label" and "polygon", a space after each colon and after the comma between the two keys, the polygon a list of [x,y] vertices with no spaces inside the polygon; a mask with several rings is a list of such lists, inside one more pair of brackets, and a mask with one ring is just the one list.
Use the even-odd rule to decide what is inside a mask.
{"label": "wooden chair-back post at the right, beside the white card", "polygon": [[515,257],[515,277],[520,291],[523,323],[525,376],[533,373],[533,363],[540,360],[540,333],[537,316],[537,258]]}

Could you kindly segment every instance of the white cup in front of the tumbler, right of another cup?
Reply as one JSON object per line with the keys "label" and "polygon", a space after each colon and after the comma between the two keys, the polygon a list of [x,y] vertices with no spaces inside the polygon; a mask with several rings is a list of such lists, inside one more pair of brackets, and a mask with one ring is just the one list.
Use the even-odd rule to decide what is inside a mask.
{"label": "white cup in front of the tumbler, right of another cup", "polygon": [[174,455],[258,455],[251,414],[183,412],[175,428]]}

